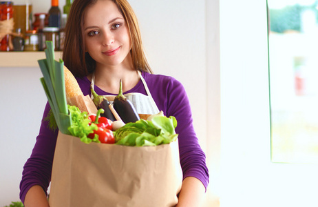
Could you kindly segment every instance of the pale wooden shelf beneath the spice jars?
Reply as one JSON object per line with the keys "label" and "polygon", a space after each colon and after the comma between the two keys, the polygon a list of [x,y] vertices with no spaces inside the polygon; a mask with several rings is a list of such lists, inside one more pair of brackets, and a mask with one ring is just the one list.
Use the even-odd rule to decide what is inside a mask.
{"label": "pale wooden shelf beneath the spice jars", "polygon": [[[60,58],[62,52],[55,52],[55,59]],[[39,67],[39,59],[45,59],[44,52],[0,52],[0,67]]]}

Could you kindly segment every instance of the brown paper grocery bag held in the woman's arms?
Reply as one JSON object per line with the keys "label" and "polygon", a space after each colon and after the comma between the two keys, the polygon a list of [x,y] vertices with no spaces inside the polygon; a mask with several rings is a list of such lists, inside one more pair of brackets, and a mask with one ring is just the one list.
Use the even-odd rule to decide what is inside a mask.
{"label": "brown paper grocery bag held in the woman's arms", "polygon": [[160,146],[85,144],[59,132],[50,207],[176,206],[182,184],[178,141]]}

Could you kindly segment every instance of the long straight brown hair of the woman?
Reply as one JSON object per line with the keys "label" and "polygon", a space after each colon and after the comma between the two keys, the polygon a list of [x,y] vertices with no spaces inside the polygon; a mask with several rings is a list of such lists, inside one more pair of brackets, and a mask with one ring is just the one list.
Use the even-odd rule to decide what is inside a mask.
{"label": "long straight brown hair of the woman", "polygon": [[[74,0],[65,26],[63,61],[76,77],[85,77],[95,70],[96,62],[89,56],[88,52],[85,52],[83,25],[87,7],[96,3],[96,1],[98,0]],[[142,47],[138,20],[134,10],[127,0],[110,1],[116,3],[127,23],[131,39],[130,53],[134,68],[152,73]]]}

